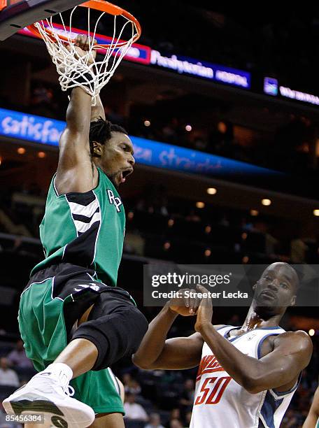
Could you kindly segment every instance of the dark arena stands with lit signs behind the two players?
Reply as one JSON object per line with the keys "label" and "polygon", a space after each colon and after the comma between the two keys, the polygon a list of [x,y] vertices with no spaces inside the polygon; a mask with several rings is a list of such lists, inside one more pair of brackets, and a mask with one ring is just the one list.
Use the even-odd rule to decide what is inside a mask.
{"label": "dark arena stands with lit signs behind the two players", "polygon": [[[152,320],[160,309],[143,306],[143,265],[154,260],[319,264],[318,6],[118,5],[143,29],[101,90],[106,117],[129,131],[136,158],[120,189],[127,225],[118,285]],[[0,43],[0,55],[2,401],[34,374],[19,350],[17,311],[43,257],[38,225],[68,98],[43,41],[21,30]],[[213,322],[239,325],[246,311],[215,308]],[[297,428],[318,386],[318,302],[290,308],[281,325],[313,341],[281,424]],[[192,332],[194,318],[179,317],[170,336]],[[11,385],[1,379],[7,365],[17,373]],[[140,405],[127,427],[189,426],[197,369],[143,371],[121,360],[113,370],[127,408]],[[0,414],[0,427],[17,426]]]}

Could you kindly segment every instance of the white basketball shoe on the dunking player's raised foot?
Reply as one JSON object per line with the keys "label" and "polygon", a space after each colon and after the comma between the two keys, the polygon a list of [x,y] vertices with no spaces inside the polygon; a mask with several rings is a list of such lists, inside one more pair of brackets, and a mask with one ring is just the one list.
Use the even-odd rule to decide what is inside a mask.
{"label": "white basketball shoe on the dunking player's raised foot", "polygon": [[93,409],[71,398],[74,390],[63,373],[51,373],[48,369],[36,374],[26,385],[3,401],[6,413],[9,415],[42,413],[45,425],[50,423],[51,427],[89,427],[95,418]]}

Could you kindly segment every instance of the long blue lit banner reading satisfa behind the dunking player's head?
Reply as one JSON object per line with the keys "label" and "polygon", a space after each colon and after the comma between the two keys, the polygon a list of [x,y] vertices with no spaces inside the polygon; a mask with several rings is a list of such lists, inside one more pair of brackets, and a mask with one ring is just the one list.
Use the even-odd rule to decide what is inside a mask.
{"label": "long blue lit banner reading satisfa behind the dunking player's head", "polygon": [[[40,144],[58,145],[65,127],[62,120],[48,119],[27,113],[0,108],[0,135],[33,141]],[[260,168],[225,157],[210,155],[197,150],[177,147],[132,136],[134,157],[140,164],[157,168],[173,169],[212,176],[272,175],[276,171]]]}

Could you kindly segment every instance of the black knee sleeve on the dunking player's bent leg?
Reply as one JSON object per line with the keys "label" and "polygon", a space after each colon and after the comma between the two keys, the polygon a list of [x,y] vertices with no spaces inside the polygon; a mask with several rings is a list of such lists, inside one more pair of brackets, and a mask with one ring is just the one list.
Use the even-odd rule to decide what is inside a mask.
{"label": "black knee sleeve on the dunking player's bent leg", "polygon": [[147,329],[148,322],[139,309],[123,305],[111,314],[81,324],[72,340],[86,338],[94,343],[98,357],[92,370],[101,370],[136,352]]}

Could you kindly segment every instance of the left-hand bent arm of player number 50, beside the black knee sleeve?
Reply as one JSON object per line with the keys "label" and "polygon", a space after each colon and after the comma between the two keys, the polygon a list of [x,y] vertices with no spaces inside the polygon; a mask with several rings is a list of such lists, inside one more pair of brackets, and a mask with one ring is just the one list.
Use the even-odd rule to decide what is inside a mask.
{"label": "left-hand bent arm of player number 50, beside the black knee sleeve", "polygon": [[190,369],[201,361],[203,340],[200,334],[166,339],[178,314],[194,315],[197,310],[195,301],[189,300],[185,306],[175,300],[169,301],[150,322],[139,350],[133,355],[134,364],[141,369]]}

